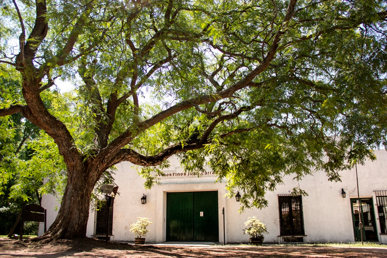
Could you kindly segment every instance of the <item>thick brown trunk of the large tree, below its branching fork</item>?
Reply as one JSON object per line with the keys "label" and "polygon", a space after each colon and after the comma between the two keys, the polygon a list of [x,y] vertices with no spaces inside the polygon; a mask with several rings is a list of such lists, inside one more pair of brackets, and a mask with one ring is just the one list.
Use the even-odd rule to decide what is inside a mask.
{"label": "thick brown trunk of the large tree, below its branching fork", "polygon": [[68,173],[67,185],[54,223],[43,237],[83,238],[86,237],[90,198],[96,180],[89,173]]}

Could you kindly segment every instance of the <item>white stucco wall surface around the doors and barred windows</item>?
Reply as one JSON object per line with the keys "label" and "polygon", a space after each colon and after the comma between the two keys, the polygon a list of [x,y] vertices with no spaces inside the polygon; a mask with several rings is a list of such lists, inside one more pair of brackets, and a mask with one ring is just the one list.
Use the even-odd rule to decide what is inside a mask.
{"label": "white stucco wall surface around the doors and barred windows", "polygon": [[[375,151],[377,160],[367,161],[364,166],[358,165],[360,197],[372,197],[376,205],[374,190],[387,190],[387,152]],[[166,173],[181,173],[179,162],[176,158],[170,159],[170,168]],[[242,229],[248,217],[256,216],[268,228],[269,234],[265,242],[279,242],[281,239],[279,226],[278,195],[288,195],[293,187],[300,188],[308,193],[302,197],[303,219],[305,229],[305,242],[352,242],[354,241],[351,198],[357,198],[355,169],[342,171],[342,182],[330,182],[324,172],[317,171],[313,175],[305,176],[301,181],[293,180],[293,176],[285,176],[284,184],[277,186],[274,192],[268,192],[266,199],[269,201],[267,208],[250,209],[238,213],[240,203],[235,199],[224,197],[225,182],[214,183],[215,177],[167,177],[161,179],[161,184],[151,190],[144,189],[144,179],[129,162],[117,165],[115,183],[119,186],[119,195],[114,201],[113,212],[113,238],[120,241],[134,241],[134,235],[129,231],[130,225],[137,221],[137,217],[148,217],[153,222],[147,235],[147,242],[163,242],[166,239],[166,193],[182,191],[218,191],[219,214],[219,242],[223,242],[223,215],[225,208],[225,239],[228,243],[248,242],[248,235],[243,235]],[[347,192],[347,197],[342,198],[341,189]],[[141,197],[147,196],[147,204],[141,204]],[[241,194],[243,194],[241,192]],[[53,210],[55,199],[43,198],[43,207],[47,207],[49,222],[53,222],[56,212]],[[375,207],[374,207],[375,208]],[[94,212],[91,212],[88,222],[87,236],[94,233]],[[378,240],[387,243],[387,235],[380,235],[378,215],[375,213]],[[40,232],[40,231],[39,231]]]}

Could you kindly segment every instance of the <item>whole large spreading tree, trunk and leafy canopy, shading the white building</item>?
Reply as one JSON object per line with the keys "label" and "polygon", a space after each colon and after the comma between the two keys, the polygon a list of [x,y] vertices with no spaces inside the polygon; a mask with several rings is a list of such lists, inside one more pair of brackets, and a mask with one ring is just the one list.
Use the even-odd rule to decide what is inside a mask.
{"label": "whole large spreading tree, trunk and leafy canopy, shading the white building", "polygon": [[[385,1],[0,3],[0,62],[22,85],[0,115],[37,125],[66,165],[46,236],[85,237],[93,188],[122,161],[143,166],[147,186],[171,155],[209,165],[264,207],[284,174],[340,180],[386,144]],[[73,95],[51,89],[58,78]]]}

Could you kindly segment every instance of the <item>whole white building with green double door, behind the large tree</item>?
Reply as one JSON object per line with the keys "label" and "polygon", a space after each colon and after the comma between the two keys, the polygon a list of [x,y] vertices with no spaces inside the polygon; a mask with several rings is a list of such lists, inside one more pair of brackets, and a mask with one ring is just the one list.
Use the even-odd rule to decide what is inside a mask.
{"label": "whole white building with green double door, behind the large tree", "polygon": [[[361,199],[364,240],[387,243],[387,152],[375,151],[377,160],[358,165],[359,195]],[[184,173],[177,159],[170,160],[161,184],[144,189],[133,164],[117,165],[114,178],[119,195],[112,209],[110,239],[134,241],[130,225],[137,217],[153,222],[146,236],[147,242],[211,241],[224,243],[248,242],[242,229],[248,217],[262,220],[269,234],[265,242],[353,242],[360,240],[359,205],[356,171],[342,171],[342,182],[330,182],[322,171],[305,176],[301,181],[292,176],[284,178],[284,185],[266,194],[269,205],[265,209],[251,209],[238,213],[240,203],[225,198],[225,182],[214,183],[212,172],[201,175]],[[290,195],[300,184],[308,196]],[[342,197],[342,189],[346,197]],[[241,193],[243,194],[243,193]],[[141,198],[146,196],[146,204]],[[57,211],[55,198],[44,196],[42,206],[47,209],[47,227]],[[223,214],[224,211],[224,214]],[[90,212],[87,236],[106,235],[104,211]],[[223,219],[224,218],[224,219]],[[40,228],[42,233],[42,228]]]}

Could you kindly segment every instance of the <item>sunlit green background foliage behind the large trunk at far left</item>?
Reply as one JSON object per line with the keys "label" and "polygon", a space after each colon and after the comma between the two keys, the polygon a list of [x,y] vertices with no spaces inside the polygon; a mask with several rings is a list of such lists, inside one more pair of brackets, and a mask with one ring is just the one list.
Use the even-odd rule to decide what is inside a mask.
{"label": "sunlit green background foliage behind the large trunk at far left", "polygon": [[[19,81],[7,78],[12,77],[0,72],[0,99],[3,103],[21,101]],[[51,106],[49,99],[45,101]],[[0,234],[7,235],[23,206],[41,205],[43,193],[60,190],[63,176],[58,169],[65,168],[53,141],[20,113],[1,117],[0,132]],[[43,185],[44,178],[50,180]],[[37,226],[27,223],[25,233],[37,234]]]}

